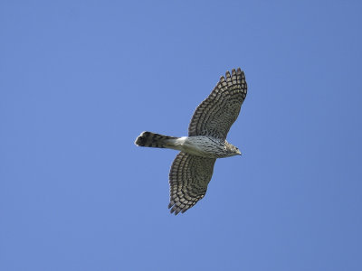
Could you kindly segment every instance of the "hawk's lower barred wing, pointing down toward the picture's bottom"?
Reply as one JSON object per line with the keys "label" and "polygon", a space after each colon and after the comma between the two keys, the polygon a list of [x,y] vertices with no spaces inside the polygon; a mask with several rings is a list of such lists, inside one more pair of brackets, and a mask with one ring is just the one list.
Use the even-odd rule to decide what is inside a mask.
{"label": "hawk's lower barred wing, pointing down toward the picture's bottom", "polygon": [[204,198],[216,159],[180,152],[169,173],[171,213],[185,212]]}

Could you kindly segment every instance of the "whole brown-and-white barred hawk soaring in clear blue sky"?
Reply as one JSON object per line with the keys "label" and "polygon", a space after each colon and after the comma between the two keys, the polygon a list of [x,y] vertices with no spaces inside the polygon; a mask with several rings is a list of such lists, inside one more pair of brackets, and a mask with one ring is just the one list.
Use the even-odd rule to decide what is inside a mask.
{"label": "whole brown-and-white barred hawk soaring in clear blue sky", "polygon": [[135,141],[138,146],[181,151],[169,173],[168,209],[183,213],[204,198],[214,171],[216,158],[241,155],[226,135],[239,115],[247,85],[242,70],[226,71],[210,95],[195,109],[188,126],[188,136],[175,137],[143,132]]}

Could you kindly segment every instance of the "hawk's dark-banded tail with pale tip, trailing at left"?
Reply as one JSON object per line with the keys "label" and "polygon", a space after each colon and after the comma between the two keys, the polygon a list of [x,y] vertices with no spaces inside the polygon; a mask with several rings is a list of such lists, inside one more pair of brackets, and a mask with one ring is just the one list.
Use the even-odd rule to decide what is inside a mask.
{"label": "hawk's dark-banded tail with pale tip, trailing at left", "polygon": [[141,135],[138,135],[135,144],[154,148],[167,148],[170,147],[170,145],[174,145],[177,138],[178,137],[174,136],[143,132]]}

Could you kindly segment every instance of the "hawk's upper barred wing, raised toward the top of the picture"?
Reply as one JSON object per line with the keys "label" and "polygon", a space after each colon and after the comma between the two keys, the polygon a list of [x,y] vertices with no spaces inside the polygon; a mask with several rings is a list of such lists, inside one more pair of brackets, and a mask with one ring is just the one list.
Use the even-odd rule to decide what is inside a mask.
{"label": "hawk's upper barred wing, raised toward the top of the picture", "polygon": [[188,126],[188,135],[212,135],[222,140],[239,116],[246,97],[247,85],[243,71],[226,71],[213,91],[195,110]]}

